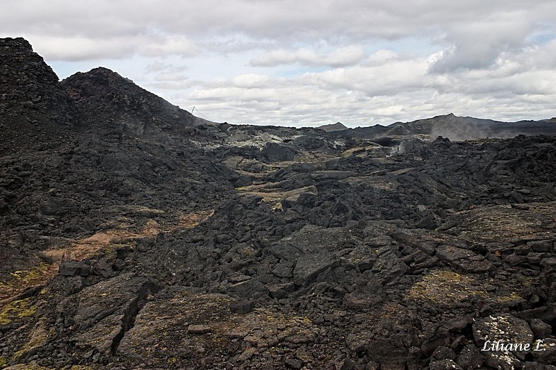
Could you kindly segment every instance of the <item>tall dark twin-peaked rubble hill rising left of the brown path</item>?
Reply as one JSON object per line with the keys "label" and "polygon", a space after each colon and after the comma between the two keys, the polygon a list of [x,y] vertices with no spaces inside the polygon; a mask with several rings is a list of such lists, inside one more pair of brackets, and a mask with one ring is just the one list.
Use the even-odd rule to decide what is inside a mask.
{"label": "tall dark twin-peaked rubble hill rising left of the brown path", "polygon": [[[1,39],[0,46],[10,72],[0,125],[0,279],[37,264],[42,249],[125,224],[129,212],[176,224],[192,205],[204,212],[233,189],[229,180],[239,175],[183,135],[171,136],[193,129],[188,112],[106,69],[62,85],[26,40]],[[138,115],[134,104],[147,110]],[[176,204],[183,189],[190,199]],[[171,212],[160,209],[168,206]]]}

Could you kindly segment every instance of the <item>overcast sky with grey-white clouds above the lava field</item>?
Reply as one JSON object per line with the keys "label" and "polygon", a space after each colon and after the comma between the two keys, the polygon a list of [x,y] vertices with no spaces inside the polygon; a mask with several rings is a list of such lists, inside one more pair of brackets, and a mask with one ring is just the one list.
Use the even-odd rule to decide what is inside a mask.
{"label": "overcast sky with grey-white clouds above the lava field", "polygon": [[211,121],[556,116],[555,0],[3,0],[60,79],[108,67]]}

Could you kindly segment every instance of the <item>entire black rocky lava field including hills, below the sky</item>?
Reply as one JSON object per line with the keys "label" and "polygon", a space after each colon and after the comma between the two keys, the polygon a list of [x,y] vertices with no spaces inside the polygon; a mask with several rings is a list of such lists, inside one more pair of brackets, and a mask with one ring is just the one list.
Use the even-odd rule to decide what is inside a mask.
{"label": "entire black rocky lava field including hills, below the sky", "polygon": [[554,119],[214,124],[0,58],[0,368],[556,368]]}

